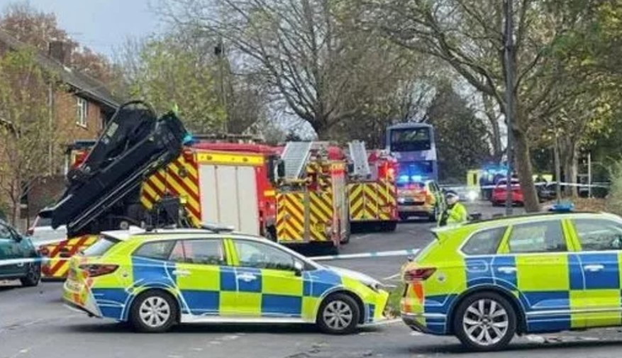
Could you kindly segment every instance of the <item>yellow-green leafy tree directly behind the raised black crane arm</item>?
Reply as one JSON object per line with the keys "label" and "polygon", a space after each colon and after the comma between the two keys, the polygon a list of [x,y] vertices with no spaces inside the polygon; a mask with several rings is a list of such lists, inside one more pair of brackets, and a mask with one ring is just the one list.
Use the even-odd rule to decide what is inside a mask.
{"label": "yellow-green leafy tree directly behind the raised black crane arm", "polygon": [[123,53],[130,95],[157,111],[177,105],[189,130],[221,130],[225,110],[218,101],[216,69],[200,53],[189,51],[172,35],[126,45]]}

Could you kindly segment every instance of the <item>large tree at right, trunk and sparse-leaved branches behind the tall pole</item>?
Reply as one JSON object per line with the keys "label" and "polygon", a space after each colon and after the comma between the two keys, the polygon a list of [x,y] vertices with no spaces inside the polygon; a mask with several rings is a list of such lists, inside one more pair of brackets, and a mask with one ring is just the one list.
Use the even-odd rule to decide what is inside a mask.
{"label": "large tree at right, trunk and sparse-leaved branches behind the tall pole", "polygon": [[[499,0],[363,1],[367,26],[382,29],[395,43],[437,57],[470,85],[492,97],[506,113],[504,2]],[[580,2],[580,1],[579,1]],[[531,168],[528,135],[533,123],[555,115],[581,94],[569,73],[570,58],[555,50],[577,29],[585,11],[577,1],[515,1],[513,46],[514,103],[510,128],[526,210],[539,209]],[[568,50],[568,47],[565,47]]]}

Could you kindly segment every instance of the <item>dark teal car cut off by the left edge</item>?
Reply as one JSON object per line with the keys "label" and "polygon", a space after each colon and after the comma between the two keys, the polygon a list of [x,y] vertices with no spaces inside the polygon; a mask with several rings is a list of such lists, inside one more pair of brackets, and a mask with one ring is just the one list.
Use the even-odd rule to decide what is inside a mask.
{"label": "dark teal car cut off by the left edge", "polygon": [[[11,264],[1,264],[2,261]],[[18,279],[23,286],[37,286],[41,279],[41,264],[33,242],[3,220],[0,220],[0,279]]]}

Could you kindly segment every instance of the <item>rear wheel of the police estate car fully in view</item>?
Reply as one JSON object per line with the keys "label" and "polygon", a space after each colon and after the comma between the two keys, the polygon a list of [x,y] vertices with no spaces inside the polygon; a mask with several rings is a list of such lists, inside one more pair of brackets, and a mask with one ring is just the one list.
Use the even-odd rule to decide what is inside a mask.
{"label": "rear wheel of the police estate car fully in view", "polygon": [[167,293],[147,291],[132,304],[130,322],[138,332],[165,332],[176,320],[177,303]]}

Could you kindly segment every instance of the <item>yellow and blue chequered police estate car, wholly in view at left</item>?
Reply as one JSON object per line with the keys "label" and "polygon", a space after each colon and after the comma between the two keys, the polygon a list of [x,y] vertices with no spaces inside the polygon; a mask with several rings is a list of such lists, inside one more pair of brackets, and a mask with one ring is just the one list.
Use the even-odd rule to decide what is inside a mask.
{"label": "yellow and blue chequered police estate car, wholly in view at left", "polygon": [[262,237],[213,230],[112,231],[73,257],[63,298],[142,332],[177,323],[316,323],[346,334],[384,319],[378,281]]}

